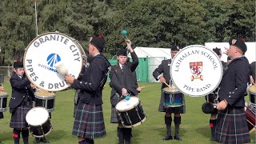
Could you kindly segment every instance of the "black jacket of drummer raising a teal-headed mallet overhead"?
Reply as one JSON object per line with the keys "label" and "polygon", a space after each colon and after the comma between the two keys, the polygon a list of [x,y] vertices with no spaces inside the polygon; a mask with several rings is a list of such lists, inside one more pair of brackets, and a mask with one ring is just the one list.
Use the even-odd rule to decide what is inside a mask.
{"label": "black jacket of drummer raising a teal-headed mallet overhead", "polygon": [[[138,95],[138,91],[136,90],[138,88],[137,79],[134,77],[134,74],[133,74],[133,72],[136,70],[138,66],[138,57],[135,54],[135,52],[130,53],[130,55],[131,55],[131,58],[133,59],[133,62],[128,62],[124,64],[123,72],[119,66],[119,63],[111,67],[111,70],[110,70],[110,87],[112,87],[111,96],[113,96],[115,93],[122,95],[122,88],[125,88],[128,91],[128,93],[131,93],[133,95]],[[122,73],[124,74],[125,84],[121,83]]]}

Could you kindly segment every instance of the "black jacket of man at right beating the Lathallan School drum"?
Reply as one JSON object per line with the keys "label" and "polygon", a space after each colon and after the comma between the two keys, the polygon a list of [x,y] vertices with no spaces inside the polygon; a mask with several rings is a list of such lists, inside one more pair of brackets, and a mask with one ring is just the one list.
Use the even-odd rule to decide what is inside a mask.
{"label": "black jacket of man at right beating the Lathallan School drum", "polygon": [[230,106],[245,106],[244,93],[250,82],[250,65],[246,57],[234,58],[224,71],[219,98]]}

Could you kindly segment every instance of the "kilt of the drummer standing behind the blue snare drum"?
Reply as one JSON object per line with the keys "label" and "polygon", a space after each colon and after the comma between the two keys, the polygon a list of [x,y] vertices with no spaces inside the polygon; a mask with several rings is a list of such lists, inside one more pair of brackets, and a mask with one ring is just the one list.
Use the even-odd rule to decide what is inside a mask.
{"label": "kilt of the drummer standing behind the blue snare drum", "polygon": [[178,113],[178,114],[186,114],[186,103],[184,99],[184,105],[178,107],[166,107],[164,106],[164,93],[161,93],[160,102],[158,106],[159,112],[167,112],[167,113]]}

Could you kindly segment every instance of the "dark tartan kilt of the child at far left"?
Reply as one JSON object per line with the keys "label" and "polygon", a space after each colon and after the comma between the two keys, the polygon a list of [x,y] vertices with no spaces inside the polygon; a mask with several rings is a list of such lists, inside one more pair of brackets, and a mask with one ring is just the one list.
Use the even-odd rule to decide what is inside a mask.
{"label": "dark tartan kilt of the child at far left", "polygon": [[10,127],[11,128],[26,128],[28,124],[26,122],[26,113],[33,106],[18,106],[10,118]]}

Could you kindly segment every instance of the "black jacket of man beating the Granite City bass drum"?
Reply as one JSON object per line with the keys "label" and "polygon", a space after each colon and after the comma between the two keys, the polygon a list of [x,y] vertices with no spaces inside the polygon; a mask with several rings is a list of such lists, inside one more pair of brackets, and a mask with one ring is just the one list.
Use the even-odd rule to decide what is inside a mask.
{"label": "black jacket of man beating the Granite City bass drum", "polygon": [[80,90],[78,97],[82,102],[102,105],[102,89],[109,67],[110,62],[102,54],[98,54],[91,59],[89,67],[82,74],[82,80],[74,79],[72,87]]}

